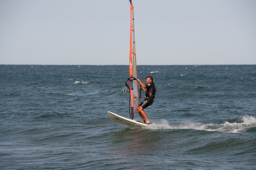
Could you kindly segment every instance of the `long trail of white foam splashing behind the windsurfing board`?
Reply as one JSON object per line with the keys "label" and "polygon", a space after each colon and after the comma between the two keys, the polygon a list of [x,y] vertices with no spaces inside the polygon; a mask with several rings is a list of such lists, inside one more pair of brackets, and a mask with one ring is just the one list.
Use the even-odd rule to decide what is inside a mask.
{"label": "long trail of white foam splashing behind the windsurfing board", "polygon": [[149,129],[195,129],[203,131],[218,131],[225,133],[244,133],[248,128],[256,127],[256,118],[252,116],[242,116],[242,123],[229,123],[225,121],[223,124],[202,124],[198,122],[183,122],[179,124],[169,124],[166,120],[160,123],[152,123]]}

